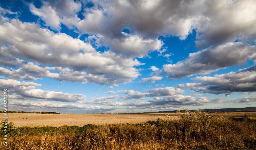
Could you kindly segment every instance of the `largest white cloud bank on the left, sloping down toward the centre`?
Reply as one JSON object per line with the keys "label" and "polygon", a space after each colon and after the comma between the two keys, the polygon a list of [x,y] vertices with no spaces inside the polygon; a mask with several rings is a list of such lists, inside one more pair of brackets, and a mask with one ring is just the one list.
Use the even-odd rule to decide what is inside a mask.
{"label": "largest white cloud bank on the left, sloping down toward the centre", "polygon": [[[0,29],[2,31],[0,44],[8,45],[8,47],[0,49],[1,56],[5,55],[0,61],[2,65],[15,65],[12,62],[15,60],[19,66],[24,63],[24,60],[20,59],[23,58],[44,65],[70,68],[70,70],[56,74],[56,72],[49,72],[50,67],[37,67],[45,72],[41,76],[36,75],[39,78],[47,76],[54,79],[70,79],[73,82],[122,84],[131,82],[139,75],[134,66],[141,65],[141,63],[136,59],[124,58],[110,51],[99,53],[90,44],[84,43],[80,39],[74,39],[65,33],[55,34],[36,24],[23,23],[16,19],[0,25]],[[23,34],[26,36],[20,36]],[[20,67],[29,65],[36,68],[32,63],[23,64]],[[8,70],[6,71],[8,74]],[[27,68],[17,71],[27,75],[25,74]],[[12,78],[24,79],[23,77]],[[30,77],[30,79],[35,78]]]}

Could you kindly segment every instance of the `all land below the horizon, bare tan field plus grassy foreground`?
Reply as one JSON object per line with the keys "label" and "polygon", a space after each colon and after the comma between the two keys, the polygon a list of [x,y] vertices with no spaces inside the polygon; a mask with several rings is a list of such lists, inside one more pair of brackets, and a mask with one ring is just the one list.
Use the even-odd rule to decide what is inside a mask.
{"label": "all land below the horizon, bare tan field plus grassy foreground", "polygon": [[8,116],[8,146],[0,124],[1,150],[256,149],[255,112]]}

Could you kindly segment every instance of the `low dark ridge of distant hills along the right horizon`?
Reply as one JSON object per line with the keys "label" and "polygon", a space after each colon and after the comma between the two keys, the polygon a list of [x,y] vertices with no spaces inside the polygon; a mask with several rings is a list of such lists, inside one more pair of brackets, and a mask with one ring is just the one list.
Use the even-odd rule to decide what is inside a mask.
{"label": "low dark ridge of distant hills along the right horizon", "polygon": [[[202,110],[215,110],[218,112],[221,111],[251,111],[251,110],[255,110],[256,111],[256,107],[244,107],[244,108],[220,108],[220,109],[202,109]],[[191,111],[195,111],[194,109]],[[147,113],[172,113],[172,112],[176,112],[176,110],[168,110],[168,111],[157,111],[157,112],[143,112],[143,114],[147,114]]]}

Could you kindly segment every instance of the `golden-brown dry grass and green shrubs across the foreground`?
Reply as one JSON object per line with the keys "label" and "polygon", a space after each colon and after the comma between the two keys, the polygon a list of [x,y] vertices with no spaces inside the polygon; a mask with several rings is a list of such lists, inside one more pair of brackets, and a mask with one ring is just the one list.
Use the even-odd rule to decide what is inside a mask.
{"label": "golden-brown dry grass and green shrubs across the foreground", "polygon": [[[255,149],[255,117],[162,120],[140,124],[15,127],[0,149]],[[3,132],[1,129],[1,137]]]}

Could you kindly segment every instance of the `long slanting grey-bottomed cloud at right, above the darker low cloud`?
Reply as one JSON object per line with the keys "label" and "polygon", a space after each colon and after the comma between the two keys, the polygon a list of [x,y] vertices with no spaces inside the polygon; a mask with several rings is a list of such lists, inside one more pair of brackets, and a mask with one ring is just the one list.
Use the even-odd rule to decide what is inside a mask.
{"label": "long slanting grey-bottomed cloud at right, above the darker low cloud", "polygon": [[221,68],[238,64],[244,65],[248,57],[254,52],[255,45],[229,42],[190,53],[185,60],[176,64],[163,65],[163,70],[169,79],[179,79],[195,74],[209,74]]}

